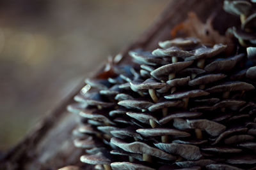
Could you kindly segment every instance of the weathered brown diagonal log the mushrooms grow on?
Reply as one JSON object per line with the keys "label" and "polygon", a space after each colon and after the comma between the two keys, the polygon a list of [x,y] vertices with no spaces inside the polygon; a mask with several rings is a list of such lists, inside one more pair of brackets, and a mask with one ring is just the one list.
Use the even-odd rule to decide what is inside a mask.
{"label": "weathered brown diagonal log the mushrooms grow on", "polygon": [[[136,4],[134,4],[136,5]],[[161,16],[144,34],[132,45],[124,48],[120,53],[124,55],[122,62],[129,58],[127,52],[133,48],[156,48],[159,40],[170,39],[173,25],[186,19],[189,11],[195,11],[205,20],[213,12],[221,11],[222,1],[214,0],[173,0],[166,6]],[[226,18],[227,19],[227,18]],[[225,25],[225,17],[220,17],[217,28]],[[99,73],[102,69],[95,71]],[[20,143],[8,152],[0,162],[0,169],[58,169],[67,165],[81,164],[79,156],[83,152],[72,143],[72,129],[76,127],[77,115],[66,111],[68,104],[83,87],[82,82],[66,97],[56,110],[48,114],[39,122]],[[92,166],[86,166],[91,169]]]}

